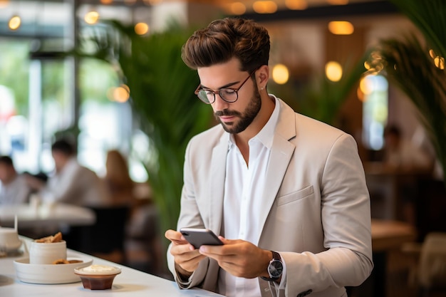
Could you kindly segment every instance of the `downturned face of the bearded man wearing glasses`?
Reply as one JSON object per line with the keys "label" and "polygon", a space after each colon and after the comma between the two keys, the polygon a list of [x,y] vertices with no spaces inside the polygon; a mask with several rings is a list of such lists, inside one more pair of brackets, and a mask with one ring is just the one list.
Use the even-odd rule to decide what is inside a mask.
{"label": "downturned face of the bearded man wearing glasses", "polygon": [[[211,90],[220,88],[239,88],[247,78],[247,71],[240,71],[237,59],[223,64],[198,69],[202,87]],[[222,124],[224,130],[237,134],[251,125],[261,109],[259,90],[251,78],[238,91],[238,100],[227,103],[219,95],[215,95],[212,103],[215,118]]]}

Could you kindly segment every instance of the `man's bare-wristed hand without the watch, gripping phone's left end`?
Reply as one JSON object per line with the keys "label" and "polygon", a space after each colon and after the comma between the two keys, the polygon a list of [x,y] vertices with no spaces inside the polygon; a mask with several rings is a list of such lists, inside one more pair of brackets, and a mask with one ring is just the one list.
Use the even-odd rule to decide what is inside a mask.
{"label": "man's bare-wristed hand without the watch, gripping phone's left end", "polygon": [[199,253],[197,249],[192,246],[184,236],[178,231],[167,230],[165,237],[172,241],[172,247],[170,248],[170,254],[175,259],[175,268],[183,278],[188,278],[192,275],[198,267],[199,261],[206,256]]}

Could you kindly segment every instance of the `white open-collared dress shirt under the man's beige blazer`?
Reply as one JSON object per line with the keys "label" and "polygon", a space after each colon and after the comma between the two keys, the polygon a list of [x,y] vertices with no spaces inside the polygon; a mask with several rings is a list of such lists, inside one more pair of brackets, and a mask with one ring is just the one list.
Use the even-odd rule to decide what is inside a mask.
{"label": "white open-collared dress shirt under the man's beige blazer", "polygon": [[[268,122],[249,140],[248,165],[231,135],[224,183],[224,237],[227,239],[243,239],[258,244],[256,241],[261,229],[256,214],[261,212],[263,205],[256,197],[261,197],[264,187],[268,187],[266,170],[279,118],[279,102],[275,100],[276,107]],[[239,278],[223,269],[219,273],[219,291],[224,296],[260,296],[257,278]]]}

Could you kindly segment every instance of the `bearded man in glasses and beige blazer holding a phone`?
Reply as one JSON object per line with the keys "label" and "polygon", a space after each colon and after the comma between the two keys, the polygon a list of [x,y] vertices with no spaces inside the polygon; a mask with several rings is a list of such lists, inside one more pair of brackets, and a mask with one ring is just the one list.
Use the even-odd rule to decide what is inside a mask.
{"label": "bearded man in glasses and beige blazer holding a phone", "polygon": [[169,267],[180,288],[225,296],[346,296],[373,268],[356,142],[267,93],[269,48],[265,28],[232,18],[183,47],[220,125],[187,147],[177,228],[224,245],[194,249],[167,230]]}

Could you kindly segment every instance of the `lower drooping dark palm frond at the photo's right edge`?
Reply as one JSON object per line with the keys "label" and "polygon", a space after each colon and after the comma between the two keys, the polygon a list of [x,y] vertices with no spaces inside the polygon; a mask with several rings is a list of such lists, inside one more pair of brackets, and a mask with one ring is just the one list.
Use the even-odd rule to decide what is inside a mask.
{"label": "lower drooping dark palm frond at the photo's right edge", "polygon": [[414,103],[443,172],[446,172],[445,71],[435,66],[429,48],[422,46],[415,36],[383,40],[379,51],[378,59],[370,63],[383,65],[390,82]]}

